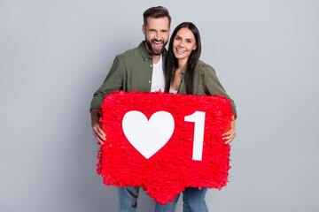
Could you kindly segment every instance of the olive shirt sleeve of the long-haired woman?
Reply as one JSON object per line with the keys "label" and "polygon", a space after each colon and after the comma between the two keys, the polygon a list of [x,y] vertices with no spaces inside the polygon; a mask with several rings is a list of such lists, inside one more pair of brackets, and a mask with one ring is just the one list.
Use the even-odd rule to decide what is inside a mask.
{"label": "olive shirt sleeve of the long-haired woman", "polygon": [[227,95],[225,89],[222,87],[220,80],[217,78],[214,68],[205,64],[202,71],[202,82],[206,95],[226,95],[230,99],[230,107],[237,117],[237,110],[235,102]]}

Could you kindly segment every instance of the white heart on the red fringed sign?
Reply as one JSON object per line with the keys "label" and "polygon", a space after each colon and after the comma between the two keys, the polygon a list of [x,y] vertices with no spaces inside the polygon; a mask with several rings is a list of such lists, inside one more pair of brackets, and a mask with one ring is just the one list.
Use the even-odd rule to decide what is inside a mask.
{"label": "white heart on the red fringed sign", "polygon": [[147,120],[143,113],[131,110],[122,121],[128,141],[136,150],[149,159],[163,148],[174,132],[174,117],[166,111],[158,111]]}

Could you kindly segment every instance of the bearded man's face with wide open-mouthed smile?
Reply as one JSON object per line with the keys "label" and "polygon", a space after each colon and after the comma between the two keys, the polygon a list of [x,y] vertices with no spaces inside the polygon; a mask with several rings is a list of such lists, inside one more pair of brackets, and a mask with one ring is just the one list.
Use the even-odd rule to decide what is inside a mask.
{"label": "bearded man's face with wide open-mouthed smile", "polygon": [[147,19],[147,26],[143,26],[143,34],[145,34],[146,49],[153,55],[159,56],[167,42],[170,34],[168,27],[168,18]]}

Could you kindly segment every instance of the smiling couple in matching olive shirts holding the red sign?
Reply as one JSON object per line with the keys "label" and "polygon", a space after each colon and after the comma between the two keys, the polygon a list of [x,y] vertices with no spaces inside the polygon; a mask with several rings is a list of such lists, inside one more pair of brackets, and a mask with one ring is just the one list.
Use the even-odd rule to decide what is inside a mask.
{"label": "smiling couple in matching olive shirts holding the red sign", "polygon": [[[227,95],[216,77],[214,69],[198,60],[201,42],[198,28],[183,22],[171,35],[168,50],[165,46],[170,34],[171,17],[165,7],[152,7],[144,11],[143,33],[145,41],[115,57],[104,84],[98,88],[91,102],[92,130],[103,145],[105,133],[98,124],[99,107],[104,96],[117,91],[165,91],[187,95]],[[227,95],[228,96],[228,95]],[[228,96],[229,98],[229,96]],[[236,114],[232,100],[231,108]],[[235,117],[229,132],[223,134],[226,143],[234,140]],[[150,140],[152,142],[152,140]],[[128,173],[129,174],[129,173]],[[208,211],[205,195],[207,188],[188,187],[183,191],[183,211]],[[119,187],[119,211],[136,211],[139,187]],[[166,205],[156,203],[155,212],[175,211],[178,196]]]}

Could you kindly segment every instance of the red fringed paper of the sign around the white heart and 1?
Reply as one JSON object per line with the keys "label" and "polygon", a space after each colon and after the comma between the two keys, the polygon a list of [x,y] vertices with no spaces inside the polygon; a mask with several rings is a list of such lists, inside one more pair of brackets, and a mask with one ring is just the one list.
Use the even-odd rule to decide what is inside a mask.
{"label": "red fringed paper of the sign around the white heart and 1", "polygon": [[[164,110],[175,119],[172,137],[149,159],[136,151],[123,133],[122,118],[130,110],[138,110],[147,118]],[[192,160],[194,123],[184,121],[195,111],[206,112],[201,161]],[[97,173],[106,186],[141,186],[159,204],[173,201],[185,187],[226,186],[230,145],[222,140],[222,133],[230,130],[234,114],[225,96],[117,91],[105,96],[101,115],[106,140],[97,155]]]}

